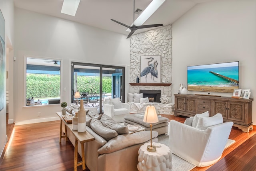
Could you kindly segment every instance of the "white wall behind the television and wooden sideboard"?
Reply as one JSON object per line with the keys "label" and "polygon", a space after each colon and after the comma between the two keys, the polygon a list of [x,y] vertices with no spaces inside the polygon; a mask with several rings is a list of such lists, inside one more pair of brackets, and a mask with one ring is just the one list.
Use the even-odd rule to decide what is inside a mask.
{"label": "white wall behind the television and wooden sideboard", "polygon": [[[172,36],[174,93],[178,92],[180,83],[187,83],[187,66],[239,61],[239,86],[251,89],[250,98],[256,96],[256,0],[197,4],[173,23]],[[195,93],[198,92],[189,92]],[[232,96],[231,93],[211,94]],[[252,122],[256,125],[255,99],[252,112]]]}

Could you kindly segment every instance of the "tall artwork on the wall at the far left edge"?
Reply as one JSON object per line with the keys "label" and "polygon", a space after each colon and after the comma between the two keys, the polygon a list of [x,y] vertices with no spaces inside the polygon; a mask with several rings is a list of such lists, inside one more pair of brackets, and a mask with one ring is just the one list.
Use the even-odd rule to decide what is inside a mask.
{"label": "tall artwork on the wall at the far left edge", "polygon": [[0,111],[4,108],[4,85],[5,85],[5,69],[4,69],[4,60],[5,60],[5,20],[0,10]]}

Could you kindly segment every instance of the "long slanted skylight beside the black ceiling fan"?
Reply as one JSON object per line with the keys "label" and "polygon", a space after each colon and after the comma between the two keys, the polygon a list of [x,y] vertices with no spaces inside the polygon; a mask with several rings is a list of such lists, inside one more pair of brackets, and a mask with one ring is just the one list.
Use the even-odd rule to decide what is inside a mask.
{"label": "long slanted skylight beside the black ceiling fan", "polygon": [[[134,21],[136,23],[136,26],[142,25],[154,12],[165,2],[166,0],[153,0],[148,7],[138,16],[138,18]],[[131,26],[134,24],[132,23]],[[127,29],[126,31],[131,31],[130,29]]]}

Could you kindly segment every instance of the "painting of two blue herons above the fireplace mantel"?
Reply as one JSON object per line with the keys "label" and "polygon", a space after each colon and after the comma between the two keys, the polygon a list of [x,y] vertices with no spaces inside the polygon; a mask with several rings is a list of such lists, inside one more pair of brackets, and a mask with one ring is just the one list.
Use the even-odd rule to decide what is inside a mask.
{"label": "painting of two blue herons above the fireplace mantel", "polygon": [[140,83],[160,83],[161,57],[140,57]]}

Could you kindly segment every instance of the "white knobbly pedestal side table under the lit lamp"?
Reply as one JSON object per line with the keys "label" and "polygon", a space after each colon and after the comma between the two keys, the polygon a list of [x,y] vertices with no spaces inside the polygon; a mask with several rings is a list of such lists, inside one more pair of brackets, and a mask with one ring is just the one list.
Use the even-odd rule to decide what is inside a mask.
{"label": "white knobbly pedestal side table under the lit lamp", "polygon": [[156,147],[156,152],[147,151],[147,145],[144,143],[138,151],[138,165],[139,171],[172,171],[172,152],[169,147],[161,144]]}

